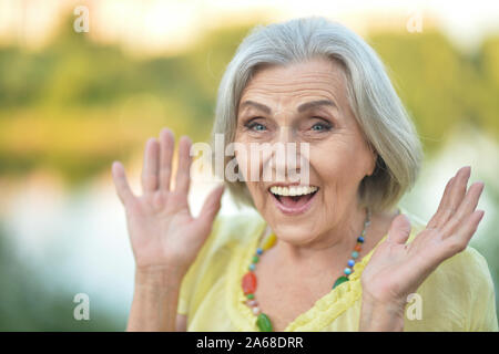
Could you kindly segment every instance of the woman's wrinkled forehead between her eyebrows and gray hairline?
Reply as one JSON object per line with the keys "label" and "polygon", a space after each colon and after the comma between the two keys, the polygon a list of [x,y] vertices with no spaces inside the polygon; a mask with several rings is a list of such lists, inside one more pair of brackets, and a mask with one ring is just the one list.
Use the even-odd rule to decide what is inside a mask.
{"label": "woman's wrinkled forehead between her eyebrows and gray hairline", "polygon": [[323,58],[287,65],[268,65],[256,71],[243,90],[242,100],[259,98],[266,103],[296,103],[315,97],[338,104],[346,97],[343,65]]}

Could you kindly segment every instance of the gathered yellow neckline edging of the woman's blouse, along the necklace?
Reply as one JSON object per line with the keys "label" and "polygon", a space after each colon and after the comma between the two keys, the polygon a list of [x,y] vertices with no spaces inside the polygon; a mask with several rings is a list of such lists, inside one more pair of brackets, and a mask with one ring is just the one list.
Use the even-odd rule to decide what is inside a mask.
{"label": "gathered yellow neckline edging of the woman's blouse, along the necklace", "polygon": [[[400,211],[399,211],[400,212]],[[246,244],[238,244],[231,258],[227,270],[226,282],[226,309],[228,315],[235,326],[242,332],[258,332],[256,326],[256,315],[246,305],[246,296],[244,295],[241,282],[243,275],[248,271],[248,264],[252,256],[255,254],[262,233],[266,229],[267,223],[262,221],[252,230],[254,236]],[[268,236],[267,236],[268,237]],[[320,331],[333,321],[335,321],[343,312],[348,310],[361,296],[360,275],[373,256],[376,248],[386,239],[385,235],[375,247],[364,256],[354,266],[354,272],[346,281],[327,294],[319,298],[314,305],[299,314],[293,322],[288,323],[284,332],[293,331]]]}

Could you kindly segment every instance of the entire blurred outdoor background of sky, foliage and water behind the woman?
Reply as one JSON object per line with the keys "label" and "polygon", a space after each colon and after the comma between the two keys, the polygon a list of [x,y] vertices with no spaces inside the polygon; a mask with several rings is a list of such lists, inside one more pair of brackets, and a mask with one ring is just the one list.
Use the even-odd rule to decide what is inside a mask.
{"label": "entire blurred outdoor background of sky, foliage and water behind the woman", "polygon": [[[0,331],[125,329],[134,263],[112,162],[139,192],[149,137],[208,139],[248,30],[313,14],[379,53],[414,117],[425,163],[403,207],[429,220],[461,166],[485,181],[471,246],[497,292],[499,3],[0,0]],[[194,180],[194,214],[210,188]],[[224,196],[221,212],[241,211]],[[74,317],[81,293],[88,321]]]}

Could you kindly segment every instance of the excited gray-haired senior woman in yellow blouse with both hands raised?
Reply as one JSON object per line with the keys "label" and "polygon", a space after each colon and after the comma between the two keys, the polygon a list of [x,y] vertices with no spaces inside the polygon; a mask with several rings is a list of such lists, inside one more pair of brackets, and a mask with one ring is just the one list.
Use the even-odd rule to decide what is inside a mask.
{"label": "excited gray-haired senior woman in yellow blouse with both hands raised", "polygon": [[[142,196],[115,162],[136,262],[128,330],[497,330],[487,263],[468,247],[483,184],[468,188],[464,167],[427,225],[400,212],[420,144],[380,60],[355,33],[323,18],[256,28],[222,79],[213,134],[223,134],[224,152],[306,145],[296,166],[307,167],[306,183],[265,180],[286,159],[236,149],[242,178],[225,185],[257,214],[216,217],[221,186],[193,218],[187,137],[175,178],[172,132],[147,140]],[[261,178],[248,178],[255,170]]]}

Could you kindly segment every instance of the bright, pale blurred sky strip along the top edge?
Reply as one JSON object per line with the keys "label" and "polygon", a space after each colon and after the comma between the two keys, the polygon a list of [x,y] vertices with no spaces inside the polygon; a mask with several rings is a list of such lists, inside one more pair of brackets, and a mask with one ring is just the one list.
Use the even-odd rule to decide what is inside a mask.
{"label": "bright, pale blurred sky strip along the top edge", "polygon": [[415,35],[415,29],[437,25],[465,50],[478,46],[483,35],[499,34],[499,1],[490,0],[0,0],[0,45],[43,45],[63,14],[79,6],[89,9],[92,38],[145,55],[182,51],[211,28],[314,14],[360,35],[379,28],[410,31],[410,21]]}

